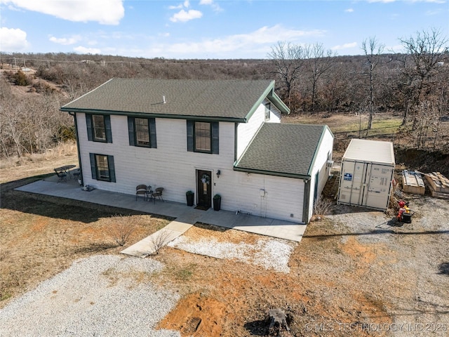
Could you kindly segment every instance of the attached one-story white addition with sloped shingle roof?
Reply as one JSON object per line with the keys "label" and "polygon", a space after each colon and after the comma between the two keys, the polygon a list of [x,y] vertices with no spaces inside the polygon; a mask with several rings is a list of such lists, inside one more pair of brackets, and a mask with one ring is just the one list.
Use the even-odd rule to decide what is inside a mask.
{"label": "attached one-story white addition with sloped shingle roof", "polygon": [[309,223],[329,177],[333,139],[328,126],[264,123],[234,164],[252,190],[242,180],[233,206],[253,213],[260,204],[261,216]]}

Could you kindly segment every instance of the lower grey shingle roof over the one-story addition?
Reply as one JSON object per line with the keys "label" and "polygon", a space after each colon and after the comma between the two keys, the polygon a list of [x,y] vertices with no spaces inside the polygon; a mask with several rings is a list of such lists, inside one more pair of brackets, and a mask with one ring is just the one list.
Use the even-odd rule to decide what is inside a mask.
{"label": "lower grey shingle roof over the one-story addition", "polygon": [[236,163],[236,171],[309,176],[323,125],[264,123]]}

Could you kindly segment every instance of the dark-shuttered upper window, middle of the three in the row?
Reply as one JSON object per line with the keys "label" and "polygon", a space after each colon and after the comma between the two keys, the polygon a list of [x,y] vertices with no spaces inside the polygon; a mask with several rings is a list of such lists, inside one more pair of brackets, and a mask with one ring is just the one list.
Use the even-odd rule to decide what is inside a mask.
{"label": "dark-shuttered upper window, middle of the three in the row", "polygon": [[128,117],[129,145],[156,147],[156,121],[154,118]]}

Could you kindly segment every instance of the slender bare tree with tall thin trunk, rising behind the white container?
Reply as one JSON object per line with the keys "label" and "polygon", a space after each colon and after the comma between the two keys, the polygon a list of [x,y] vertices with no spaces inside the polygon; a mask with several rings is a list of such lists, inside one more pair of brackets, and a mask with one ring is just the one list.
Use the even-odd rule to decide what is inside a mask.
{"label": "slender bare tree with tall thin trunk, rising behind the white container", "polygon": [[368,66],[368,72],[364,73],[368,75],[369,78],[369,91],[370,96],[368,100],[368,128],[366,130],[366,134],[368,135],[368,131],[371,130],[373,126],[373,117],[376,112],[375,107],[375,69],[380,62],[381,54],[384,51],[384,45],[380,44],[379,41],[375,37],[370,37],[368,44],[366,40],[362,42],[362,50],[365,54],[366,65]]}

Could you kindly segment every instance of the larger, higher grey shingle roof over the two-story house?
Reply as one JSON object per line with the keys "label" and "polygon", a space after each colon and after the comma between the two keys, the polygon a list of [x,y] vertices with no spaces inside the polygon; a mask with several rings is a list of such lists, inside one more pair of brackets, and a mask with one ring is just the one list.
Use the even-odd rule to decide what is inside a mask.
{"label": "larger, higher grey shingle roof over the two-story house", "polygon": [[270,80],[111,79],[61,110],[245,119],[273,88]]}

